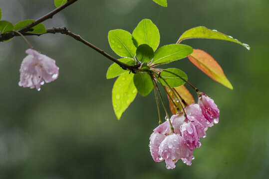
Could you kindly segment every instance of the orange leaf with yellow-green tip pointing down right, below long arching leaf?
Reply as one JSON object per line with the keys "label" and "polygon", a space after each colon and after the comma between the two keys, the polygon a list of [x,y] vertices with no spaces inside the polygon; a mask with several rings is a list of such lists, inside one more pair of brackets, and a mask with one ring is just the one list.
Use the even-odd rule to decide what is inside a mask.
{"label": "orange leaf with yellow-green tip pointing down right, below long arching leaf", "polygon": [[221,66],[208,53],[200,49],[193,49],[193,53],[189,55],[188,58],[196,67],[202,70],[210,78],[229,89],[233,89],[232,84],[224,75]]}

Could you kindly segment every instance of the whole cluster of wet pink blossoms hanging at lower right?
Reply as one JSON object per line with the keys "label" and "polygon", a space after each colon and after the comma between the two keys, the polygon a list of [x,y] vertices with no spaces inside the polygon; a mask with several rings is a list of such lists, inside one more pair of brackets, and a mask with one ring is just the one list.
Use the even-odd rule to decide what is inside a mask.
{"label": "whole cluster of wet pink blossoms hanging at lower right", "polygon": [[205,138],[208,127],[219,122],[220,111],[217,105],[204,93],[199,93],[198,104],[187,105],[185,112],[186,117],[182,112],[171,117],[174,128],[172,133],[169,121],[165,121],[150,136],[153,160],[165,160],[167,169],[174,169],[180,159],[186,165],[191,165],[193,150],[201,147],[199,138]]}

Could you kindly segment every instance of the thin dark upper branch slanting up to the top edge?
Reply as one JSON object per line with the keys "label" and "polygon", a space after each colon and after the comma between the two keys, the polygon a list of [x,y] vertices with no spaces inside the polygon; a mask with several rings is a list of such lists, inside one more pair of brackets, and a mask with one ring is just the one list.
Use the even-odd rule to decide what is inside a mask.
{"label": "thin dark upper branch slanting up to the top edge", "polygon": [[49,19],[52,18],[54,14],[58,13],[59,11],[61,11],[62,9],[64,9],[65,7],[71,5],[72,3],[74,3],[77,0],[67,0],[67,2],[57,8],[55,8],[54,10],[52,10],[51,12],[47,13],[46,15],[36,19],[35,21],[33,21],[32,23],[26,25],[25,27],[21,28],[18,30],[18,32],[22,33],[22,32],[26,32],[28,31],[30,28],[32,28],[33,26]]}

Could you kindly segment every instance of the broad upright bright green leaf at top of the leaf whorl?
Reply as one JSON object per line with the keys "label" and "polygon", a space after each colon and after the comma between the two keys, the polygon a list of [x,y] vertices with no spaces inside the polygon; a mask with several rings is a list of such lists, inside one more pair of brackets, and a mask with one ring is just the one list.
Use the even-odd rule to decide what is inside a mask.
{"label": "broad upright bright green leaf at top of the leaf whorl", "polygon": [[155,51],[160,43],[160,33],[150,19],[143,19],[134,29],[133,39],[137,46],[148,44]]}

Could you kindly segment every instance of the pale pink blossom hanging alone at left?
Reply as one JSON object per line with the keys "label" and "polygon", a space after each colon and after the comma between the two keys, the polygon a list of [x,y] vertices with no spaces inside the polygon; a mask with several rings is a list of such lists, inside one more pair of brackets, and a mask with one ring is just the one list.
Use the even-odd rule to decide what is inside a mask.
{"label": "pale pink blossom hanging alone at left", "polygon": [[27,49],[26,54],[28,55],[23,59],[19,69],[20,87],[40,90],[41,85],[58,78],[59,68],[55,65],[55,60],[33,49]]}

